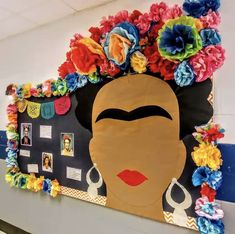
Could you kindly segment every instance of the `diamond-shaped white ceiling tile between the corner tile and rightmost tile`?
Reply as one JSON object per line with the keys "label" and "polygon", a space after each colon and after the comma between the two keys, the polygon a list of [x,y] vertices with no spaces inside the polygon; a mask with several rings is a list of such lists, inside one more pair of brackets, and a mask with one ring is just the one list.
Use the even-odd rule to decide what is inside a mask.
{"label": "diamond-shaped white ceiling tile between the corner tile and rightmost tile", "polygon": [[35,8],[23,11],[20,14],[37,24],[45,24],[63,18],[74,12],[75,11],[72,8],[62,1],[50,0],[43,2]]}

